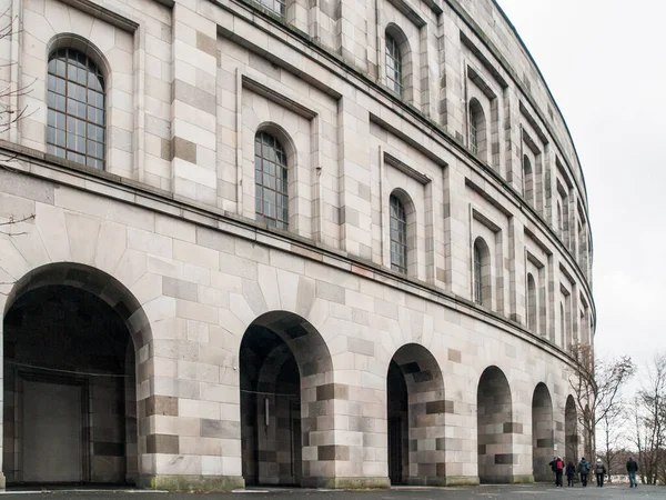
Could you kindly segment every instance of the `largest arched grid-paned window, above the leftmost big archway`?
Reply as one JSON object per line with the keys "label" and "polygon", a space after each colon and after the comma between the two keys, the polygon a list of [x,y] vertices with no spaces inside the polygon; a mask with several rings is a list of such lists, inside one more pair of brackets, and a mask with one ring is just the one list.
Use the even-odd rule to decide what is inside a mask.
{"label": "largest arched grid-paned window, above the leftmost big archway", "polygon": [[104,168],[104,77],[82,52],[58,49],[49,57],[47,150]]}

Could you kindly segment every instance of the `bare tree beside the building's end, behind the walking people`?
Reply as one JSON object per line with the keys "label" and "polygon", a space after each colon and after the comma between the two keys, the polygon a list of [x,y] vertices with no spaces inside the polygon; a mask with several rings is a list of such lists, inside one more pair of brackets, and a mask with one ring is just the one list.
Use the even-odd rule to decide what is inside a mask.
{"label": "bare tree beside the building's end, behind the walking people", "polygon": [[568,382],[583,430],[585,456],[592,459],[596,450],[596,427],[613,413],[619,401],[619,390],[632,378],[636,367],[628,356],[595,360],[592,346],[587,344],[574,346],[572,353],[574,364],[569,370]]}

